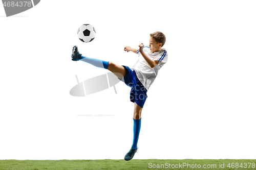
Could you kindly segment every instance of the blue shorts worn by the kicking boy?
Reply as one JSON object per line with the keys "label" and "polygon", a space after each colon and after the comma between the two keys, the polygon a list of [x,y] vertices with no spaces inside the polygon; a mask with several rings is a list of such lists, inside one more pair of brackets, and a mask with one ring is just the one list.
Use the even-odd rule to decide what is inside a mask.
{"label": "blue shorts worn by the kicking boy", "polygon": [[124,83],[131,87],[130,92],[130,100],[131,102],[135,102],[137,105],[143,108],[144,103],[146,101],[146,88],[139,81],[135,70],[132,70],[130,67],[122,65],[127,70],[127,75],[123,78]]}

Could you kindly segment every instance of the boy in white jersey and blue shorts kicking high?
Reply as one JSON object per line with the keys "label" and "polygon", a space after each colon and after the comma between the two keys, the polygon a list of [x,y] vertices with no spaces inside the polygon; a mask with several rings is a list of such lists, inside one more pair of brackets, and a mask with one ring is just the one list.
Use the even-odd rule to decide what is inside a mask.
{"label": "boy in white jersey and blue shorts kicking high", "polygon": [[139,50],[125,46],[124,51],[139,54],[139,59],[131,69],[124,65],[84,57],[78,52],[77,46],[73,47],[72,60],[84,61],[96,67],[105,68],[113,72],[119,80],[131,87],[130,100],[134,103],[134,138],[131,150],[125,155],[124,160],[131,160],[137,151],[137,143],[141,125],[141,111],[147,98],[146,92],[154,82],[158,70],[167,62],[168,54],[162,46],[165,43],[165,35],[161,32],[150,34],[150,45],[139,44]]}

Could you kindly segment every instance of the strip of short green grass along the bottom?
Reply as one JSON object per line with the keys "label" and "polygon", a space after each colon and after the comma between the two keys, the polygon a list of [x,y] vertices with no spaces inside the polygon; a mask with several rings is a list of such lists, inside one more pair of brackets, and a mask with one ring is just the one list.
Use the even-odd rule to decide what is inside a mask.
{"label": "strip of short green grass along the bottom", "polygon": [[[149,163],[152,163],[149,166]],[[170,167],[164,167],[163,165],[167,163]],[[179,164],[183,165],[183,163],[190,164],[189,166],[179,166]],[[230,164],[229,164],[230,163]],[[233,164],[231,164],[233,163]],[[236,163],[237,167],[236,168]],[[243,167],[241,166],[241,163]],[[130,161],[125,160],[0,160],[0,169],[33,169],[33,170],[41,170],[41,169],[256,169],[255,167],[256,159],[182,159],[182,160],[174,160],[174,159],[132,159]],[[153,167],[155,164],[155,168]],[[162,167],[161,167],[161,164]],[[201,168],[193,167],[197,165],[201,165]],[[224,168],[220,167],[221,165],[225,165]],[[230,167],[227,167],[228,164]],[[157,167],[159,165],[159,167]],[[176,168],[172,168],[172,165]],[[185,164],[184,164],[185,165]],[[208,165],[211,167],[204,168],[203,165]],[[216,166],[212,166],[216,165]],[[232,167],[233,165],[233,167]],[[245,167],[247,165],[247,167]],[[250,165],[250,167],[249,167]],[[150,168],[151,167],[151,168]]]}

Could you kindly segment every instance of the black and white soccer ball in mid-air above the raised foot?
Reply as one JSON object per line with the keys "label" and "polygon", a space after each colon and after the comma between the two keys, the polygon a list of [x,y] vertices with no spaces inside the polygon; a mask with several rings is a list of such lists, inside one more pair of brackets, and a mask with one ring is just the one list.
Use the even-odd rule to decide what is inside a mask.
{"label": "black and white soccer ball in mid-air above the raised foot", "polygon": [[77,36],[82,42],[91,42],[96,36],[95,28],[90,24],[84,24],[77,30]]}

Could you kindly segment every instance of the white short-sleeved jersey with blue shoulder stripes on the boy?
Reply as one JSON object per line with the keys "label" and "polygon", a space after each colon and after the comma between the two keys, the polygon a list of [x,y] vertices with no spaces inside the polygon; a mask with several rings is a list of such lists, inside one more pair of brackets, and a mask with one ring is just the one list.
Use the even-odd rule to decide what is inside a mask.
{"label": "white short-sleeved jersey with blue shoulder stripes on the boy", "polygon": [[162,48],[162,50],[159,52],[152,53],[150,51],[150,47],[144,46],[143,51],[153,61],[154,60],[159,61],[157,66],[155,66],[154,68],[151,68],[151,66],[147,64],[146,60],[140,54],[139,50],[137,50],[137,54],[139,54],[139,59],[134,64],[132,70],[136,71],[136,75],[139,81],[148,90],[152,85],[152,83],[154,82],[154,80],[156,79],[158,70],[167,62],[168,54],[165,48]]}

